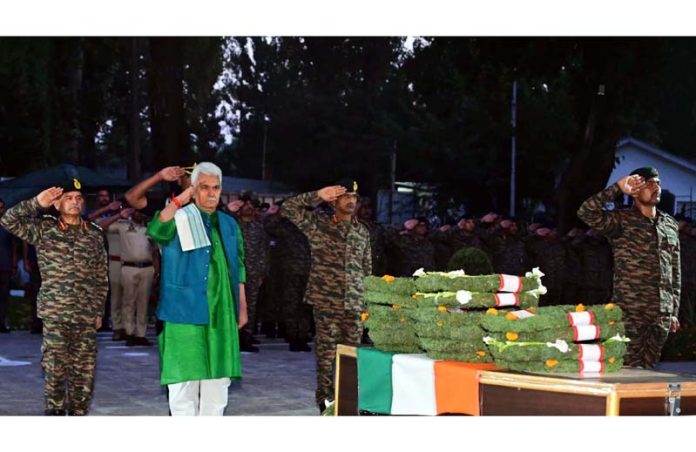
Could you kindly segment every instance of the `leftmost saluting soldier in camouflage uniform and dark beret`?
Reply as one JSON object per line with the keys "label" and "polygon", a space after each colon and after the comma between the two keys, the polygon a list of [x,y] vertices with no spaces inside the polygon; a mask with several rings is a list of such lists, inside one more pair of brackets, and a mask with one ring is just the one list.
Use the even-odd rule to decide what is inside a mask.
{"label": "leftmost saluting soldier in camouflage uniform and dark beret", "polygon": [[[42,285],[38,315],[43,320],[47,415],[86,415],[92,399],[108,267],[103,231],[80,218],[81,186],[73,179],[22,201],[0,221],[36,247]],[[59,217],[39,216],[53,205]],[[67,383],[67,400],[66,400]]]}

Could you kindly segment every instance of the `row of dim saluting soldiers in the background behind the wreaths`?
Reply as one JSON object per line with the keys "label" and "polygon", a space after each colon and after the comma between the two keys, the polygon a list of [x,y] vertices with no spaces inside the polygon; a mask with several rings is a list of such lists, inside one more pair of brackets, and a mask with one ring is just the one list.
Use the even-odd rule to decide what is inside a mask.
{"label": "row of dim saluting soldiers in the background behind the wreaths", "polygon": [[[603,304],[612,297],[612,249],[607,239],[592,229],[573,228],[562,235],[551,221],[523,224],[496,213],[464,217],[435,230],[426,218],[416,218],[397,229],[372,221],[369,201],[358,215],[370,230],[375,275],[410,276],[419,268],[457,270],[461,261],[453,259],[455,253],[475,248],[490,262],[490,267],[484,265],[479,273],[523,275],[539,267],[548,289],[541,305]],[[696,303],[696,228],[690,218],[682,218],[679,225],[683,275],[680,320],[688,324],[694,321]]]}

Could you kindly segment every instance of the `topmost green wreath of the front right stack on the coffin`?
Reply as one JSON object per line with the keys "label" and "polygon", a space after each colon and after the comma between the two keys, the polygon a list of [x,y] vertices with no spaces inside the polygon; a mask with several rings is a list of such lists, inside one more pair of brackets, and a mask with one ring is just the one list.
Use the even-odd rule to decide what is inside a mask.
{"label": "topmost green wreath of the front right stack on the coffin", "polygon": [[[576,306],[548,306],[538,308],[534,317],[524,319],[508,319],[505,313],[487,315],[481,321],[481,326],[487,331],[530,332],[552,328],[563,328],[570,325],[568,313],[575,312]],[[616,305],[600,305],[585,308],[594,316],[595,324],[608,324],[621,321],[621,308]]]}

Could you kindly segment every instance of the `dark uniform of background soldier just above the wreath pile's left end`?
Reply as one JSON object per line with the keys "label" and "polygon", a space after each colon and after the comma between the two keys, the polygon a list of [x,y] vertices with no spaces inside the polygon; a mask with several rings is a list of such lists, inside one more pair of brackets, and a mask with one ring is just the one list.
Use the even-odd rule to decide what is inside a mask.
{"label": "dark uniform of background soldier just above the wreath pile's left end", "polygon": [[390,232],[387,234],[387,248],[394,257],[389,272],[393,276],[412,276],[419,268],[434,270],[435,247],[427,237]]}

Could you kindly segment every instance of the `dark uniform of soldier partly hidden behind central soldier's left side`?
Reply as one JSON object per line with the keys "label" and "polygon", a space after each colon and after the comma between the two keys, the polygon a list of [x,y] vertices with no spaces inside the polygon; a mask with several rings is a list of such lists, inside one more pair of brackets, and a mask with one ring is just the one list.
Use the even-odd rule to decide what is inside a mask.
{"label": "dark uniform of soldier partly hidden behind central soldier's left side", "polygon": [[267,231],[275,246],[270,256],[270,296],[265,301],[277,305],[281,314],[271,320],[282,319],[289,342],[307,342],[311,311],[303,298],[311,265],[309,242],[292,221],[280,215],[271,216]]}

